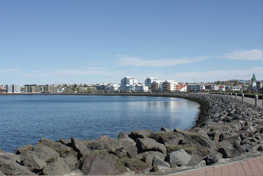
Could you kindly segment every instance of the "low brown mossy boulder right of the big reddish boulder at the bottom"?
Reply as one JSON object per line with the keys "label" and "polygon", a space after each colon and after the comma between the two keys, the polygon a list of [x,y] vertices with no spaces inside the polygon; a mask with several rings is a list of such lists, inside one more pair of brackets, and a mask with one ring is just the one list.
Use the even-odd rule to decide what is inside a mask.
{"label": "low brown mossy boulder right of the big reddish boulder at the bottom", "polygon": [[134,159],[134,158],[123,158],[120,160],[125,167],[129,168],[131,171],[138,173],[144,173],[146,169],[150,168],[149,163],[145,163],[141,160]]}

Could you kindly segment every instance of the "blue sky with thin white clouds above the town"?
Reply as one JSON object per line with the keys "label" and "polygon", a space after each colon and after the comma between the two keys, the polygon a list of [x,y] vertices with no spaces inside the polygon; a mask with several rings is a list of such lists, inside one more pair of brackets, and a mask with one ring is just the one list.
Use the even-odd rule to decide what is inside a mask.
{"label": "blue sky with thin white clouds above the town", "polygon": [[262,79],[262,1],[0,1],[0,84]]}

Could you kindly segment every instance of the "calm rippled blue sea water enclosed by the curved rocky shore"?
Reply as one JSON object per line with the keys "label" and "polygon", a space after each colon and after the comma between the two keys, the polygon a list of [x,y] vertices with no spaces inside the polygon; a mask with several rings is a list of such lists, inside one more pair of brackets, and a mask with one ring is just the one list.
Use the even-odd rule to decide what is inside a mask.
{"label": "calm rippled blue sea water enclosed by the curved rocky shore", "polygon": [[199,113],[197,102],[169,97],[9,95],[0,101],[0,148],[8,152],[41,137],[84,140],[135,129],[186,129]]}

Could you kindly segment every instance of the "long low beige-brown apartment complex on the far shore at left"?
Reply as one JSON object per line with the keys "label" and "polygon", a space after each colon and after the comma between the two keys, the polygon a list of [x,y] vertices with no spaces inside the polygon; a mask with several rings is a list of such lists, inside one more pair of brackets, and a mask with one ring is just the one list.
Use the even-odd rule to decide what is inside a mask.
{"label": "long low beige-brown apartment complex on the far shore at left", "polygon": [[48,93],[48,92],[57,92],[58,88],[55,86],[50,85],[38,85],[38,84],[31,84],[24,86],[25,93]]}

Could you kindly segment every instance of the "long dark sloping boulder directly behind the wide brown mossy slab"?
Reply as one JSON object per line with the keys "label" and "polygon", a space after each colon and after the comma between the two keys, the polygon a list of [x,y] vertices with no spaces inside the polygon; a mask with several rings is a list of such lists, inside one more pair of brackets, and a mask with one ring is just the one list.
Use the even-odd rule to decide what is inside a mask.
{"label": "long dark sloping boulder directly behind the wide brown mossy slab", "polygon": [[215,141],[205,138],[204,136],[198,134],[186,134],[182,141],[182,144],[197,144],[206,148],[216,150]]}

